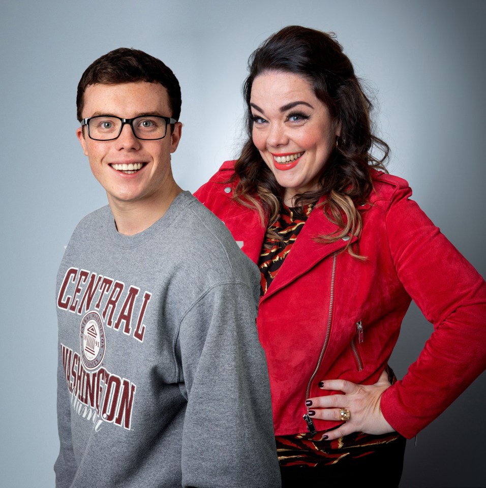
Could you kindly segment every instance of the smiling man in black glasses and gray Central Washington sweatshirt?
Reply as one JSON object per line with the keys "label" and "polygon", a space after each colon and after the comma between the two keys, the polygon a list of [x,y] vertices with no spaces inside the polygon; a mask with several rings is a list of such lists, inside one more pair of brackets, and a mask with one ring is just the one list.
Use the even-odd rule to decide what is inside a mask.
{"label": "smiling man in black glasses and gray Central Washington sweatshirt", "polygon": [[180,88],[116,49],[78,85],[77,136],[109,205],[57,277],[56,486],[280,486],[259,273],[173,179]]}

